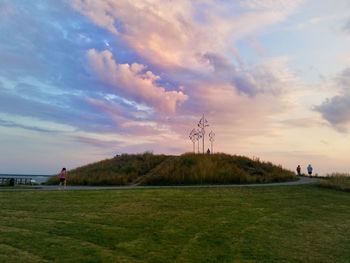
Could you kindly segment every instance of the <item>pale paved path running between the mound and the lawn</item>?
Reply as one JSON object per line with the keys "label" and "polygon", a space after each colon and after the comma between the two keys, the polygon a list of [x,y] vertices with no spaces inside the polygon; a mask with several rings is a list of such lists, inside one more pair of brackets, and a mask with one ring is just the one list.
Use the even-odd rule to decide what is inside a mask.
{"label": "pale paved path running between the mound and the lawn", "polygon": [[[178,185],[178,186],[67,186],[61,190],[130,190],[130,189],[160,189],[160,188],[236,188],[236,187],[266,187],[266,186],[283,186],[283,185],[304,185],[314,184],[318,182],[318,178],[300,177],[298,181],[283,182],[283,183],[268,183],[268,184],[225,184],[225,185]],[[58,191],[57,185],[40,185],[28,186],[21,188],[2,188],[0,192],[4,191]]]}

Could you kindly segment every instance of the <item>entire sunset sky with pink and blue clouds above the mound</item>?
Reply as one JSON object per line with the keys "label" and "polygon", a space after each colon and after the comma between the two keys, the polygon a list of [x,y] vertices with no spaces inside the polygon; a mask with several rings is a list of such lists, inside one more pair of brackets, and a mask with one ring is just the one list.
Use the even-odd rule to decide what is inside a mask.
{"label": "entire sunset sky with pink and blue clouds above the mound", "polygon": [[0,173],[190,152],[203,114],[206,149],[350,172],[350,2],[0,0]]}

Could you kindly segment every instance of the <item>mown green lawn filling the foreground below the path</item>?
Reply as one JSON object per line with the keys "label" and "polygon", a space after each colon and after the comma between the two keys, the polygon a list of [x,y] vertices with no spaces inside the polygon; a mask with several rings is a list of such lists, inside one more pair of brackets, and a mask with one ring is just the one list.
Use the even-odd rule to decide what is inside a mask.
{"label": "mown green lawn filling the foreground below the path", "polygon": [[349,262],[350,194],[317,186],[0,192],[0,262]]}

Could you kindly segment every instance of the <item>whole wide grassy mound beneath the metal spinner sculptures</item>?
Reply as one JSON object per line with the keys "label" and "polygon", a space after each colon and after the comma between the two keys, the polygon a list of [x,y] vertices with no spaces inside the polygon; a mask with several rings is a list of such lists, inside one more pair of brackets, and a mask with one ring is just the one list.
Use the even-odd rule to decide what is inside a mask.
{"label": "whole wide grassy mound beneath the metal spinner sculptures", "polygon": [[[296,180],[270,162],[228,154],[181,156],[123,154],[69,171],[70,185],[190,185],[269,183]],[[58,177],[49,184],[58,184]]]}

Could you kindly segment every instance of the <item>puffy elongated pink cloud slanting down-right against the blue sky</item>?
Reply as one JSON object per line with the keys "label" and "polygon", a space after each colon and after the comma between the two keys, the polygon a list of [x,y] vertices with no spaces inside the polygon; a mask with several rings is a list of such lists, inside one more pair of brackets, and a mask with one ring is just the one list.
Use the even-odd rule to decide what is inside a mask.
{"label": "puffy elongated pink cloud slanting down-right against the blue sky", "polygon": [[87,53],[89,63],[100,79],[113,86],[128,99],[145,103],[159,112],[175,113],[178,104],[187,100],[182,91],[166,91],[159,86],[159,76],[146,69],[145,65],[118,64],[113,54],[90,49]]}

